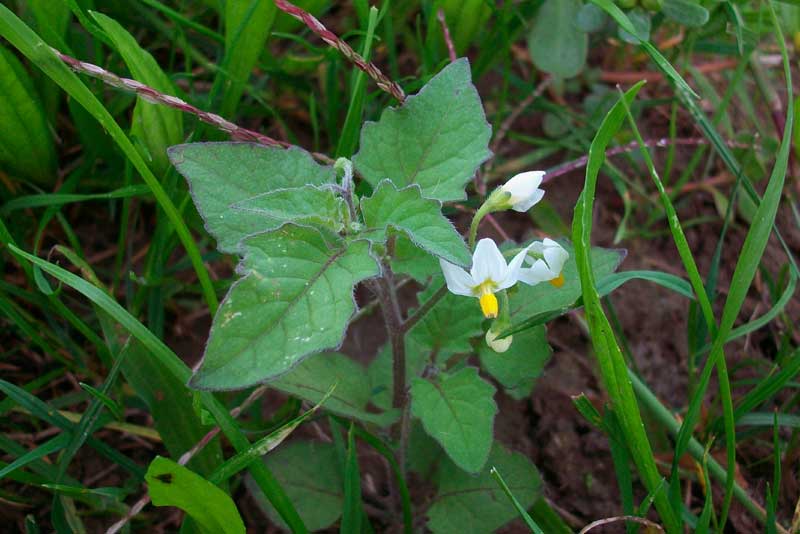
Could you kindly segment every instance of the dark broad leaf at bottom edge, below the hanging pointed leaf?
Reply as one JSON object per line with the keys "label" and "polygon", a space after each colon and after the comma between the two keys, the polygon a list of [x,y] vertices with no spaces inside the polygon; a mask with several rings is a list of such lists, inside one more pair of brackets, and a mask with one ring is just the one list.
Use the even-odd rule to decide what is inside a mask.
{"label": "dark broad leaf at bottom edge, below the hanging pointed leaf", "polygon": [[428,528],[434,534],[494,532],[517,516],[516,509],[490,474],[503,473],[508,488],[522,508],[530,507],[541,491],[536,467],[522,454],[499,443],[492,447],[486,468],[472,476],[444,461],[439,468],[439,490],[428,509]]}

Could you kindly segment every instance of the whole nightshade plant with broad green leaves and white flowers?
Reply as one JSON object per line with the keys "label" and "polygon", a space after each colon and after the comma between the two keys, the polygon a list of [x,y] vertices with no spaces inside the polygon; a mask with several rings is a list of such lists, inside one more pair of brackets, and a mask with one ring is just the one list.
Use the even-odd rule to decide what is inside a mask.
{"label": "whole nightshade plant with broad green leaves and white flowers", "polygon": [[[169,151],[218,249],[241,259],[241,278],[214,317],[190,385],[237,390],[267,383],[312,403],[336,385],[324,409],[386,433],[401,472],[410,468],[436,482],[427,510],[435,532],[470,525],[489,531],[514,517],[489,475],[492,466],[522,506],[537,498],[535,467],[494,440],[496,389],[485,376],[515,398],[530,394],[550,356],[537,318],[576,305],[580,296],[568,242],[498,248],[491,239],[477,241],[487,215],[526,212],[542,198],[544,173],[522,173],[491,193],[472,219],[468,243],[445,216],[450,203],[467,199],[468,183],[491,155],[490,136],[461,59],[366,123],[352,161],[325,165],[299,148],[248,143]],[[602,249],[593,256],[598,279],[622,257]],[[408,279],[422,290],[418,305],[404,312],[397,290]],[[375,296],[389,337],[366,369],[330,352],[356,313],[359,284]],[[474,354],[481,369],[469,360]],[[311,453],[309,446],[289,444],[267,463],[306,526],[324,528],[338,519],[341,502],[323,513],[327,501],[296,479],[308,476],[338,494],[340,475],[322,475],[328,468],[310,460],[333,449],[316,444]],[[454,512],[476,506],[480,517]]]}

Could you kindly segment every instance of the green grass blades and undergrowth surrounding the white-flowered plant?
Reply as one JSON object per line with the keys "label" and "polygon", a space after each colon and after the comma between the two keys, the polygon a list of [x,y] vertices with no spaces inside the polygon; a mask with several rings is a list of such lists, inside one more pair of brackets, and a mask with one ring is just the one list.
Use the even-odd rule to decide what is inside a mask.
{"label": "green grass blades and undergrowth surrounding the white-flowered plant", "polygon": [[[464,9],[474,12],[448,20],[470,57],[495,134],[547,76],[525,49],[542,3],[490,3],[488,22],[476,25],[481,4],[468,2]],[[607,13],[606,24],[634,31],[615,2],[592,3]],[[0,129],[30,124],[25,143],[6,143],[16,147],[15,161],[8,163],[0,150],[0,363],[6,366],[0,381],[0,497],[19,505],[19,524],[29,515],[29,523],[44,531],[105,529],[144,494],[145,472],[157,453],[177,461],[219,427],[220,436],[189,468],[241,507],[253,507],[243,489],[245,477],[252,478],[255,485],[248,487],[259,488],[293,531],[304,532],[287,489],[261,461],[288,435],[282,431],[302,423],[303,429],[329,433],[337,448],[343,532],[380,531],[389,524],[413,531],[431,503],[397,458],[395,436],[335,416],[299,415],[294,401],[269,404],[269,413],[256,404],[232,415],[252,389],[210,393],[186,386],[191,370],[181,356],[192,362],[199,356],[205,319],[232,283],[235,259],[215,251],[164,150],[227,137],[192,115],[76,74],[49,47],[331,157],[355,153],[362,121],[377,120],[396,102],[268,0],[226,7],[214,0],[97,2],[94,10],[86,9],[91,2],[70,0],[53,9],[46,4],[0,4],[0,46],[16,58],[3,67],[15,81],[13,95],[0,99],[27,113],[0,114],[7,121]],[[448,62],[437,3],[322,4],[304,3],[407,94]],[[667,532],[685,525],[706,532],[726,524],[730,529],[733,514],[747,514],[769,532],[786,532],[795,503],[779,498],[781,481],[797,473],[787,473],[786,465],[782,471],[781,463],[800,447],[794,302],[800,272],[784,235],[800,227],[796,193],[787,185],[792,160],[800,155],[793,129],[800,119],[790,69],[796,55],[787,51],[784,32],[800,35],[800,7],[703,4],[709,23],[683,28],[682,40],[671,48],[659,46],[676,34],[668,20],[657,20],[650,41],[638,45],[620,43],[615,33],[591,37],[599,52],[590,55],[590,68],[574,80],[550,80],[550,89],[529,100],[479,179],[491,191],[515,172],[549,167],[557,173],[565,162],[588,155],[578,171],[584,173],[582,186],[571,186],[575,172],[559,175],[545,185],[553,192],[545,197],[548,209],[535,214],[537,228],[565,229],[572,220],[581,299],[514,323],[512,333],[553,320],[575,331],[583,327],[588,348],[577,340],[570,349],[591,358],[607,404],[592,406],[581,397],[575,413],[608,438],[620,494],[607,515],[647,517]],[[783,69],[759,61],[762,53],[776,51]],[[698,68],[728,59],[735,62],[724,69]],[[14,73],[15,61],[24,73]],[[601,81],[601,71],[652,71],[665,82],[618,90]],[[42,120],[49,124],[40,125]],[[557,120],[569,126],[558,130]],[[702,142],[645,147],[660,138]],[[607,150],[631,142],[638,146],[606,157]],[[724,180],[713,182],[719,177]],[[468,208],[477,205],[472,197],[467,202]],[[447,211],[459,225],[462,208]],[[601,210],[610,216],[597,219]],[[523,237],[515,224],[524,219],[497,220],[512,237]],[[481,229],[491,231],[487,224]],[[635,265],[648,266],[623,264],[624,272],[594,280],[591,246],[625,247],[630,258],[653,244],[663,249],[654,263],[635,257]],[[680,377],[664,378],[672,380],[668,385],[688,384],[673,405],[654,393],[663,391],[662,384],[648,383],[640,373],[637,327],[618,313],[616,292],[635,298],[629,295],[641,284],[658,285],[659,294],[679,299],[684,310],[680,322],[665,328],[683,329],[686,365],[659,369]],[[568,312],[571,319],[559,319]],[[107,431],[120,422],[147,430],[152,422],[155,449],[127,447]],[[756,446],[768,454],[756,461],[742,454]],[[116,479],[93,479],[86,469],[90,457],[113,469]],[[686,469],[682,459],[689,458],[696,470]],[[740,484],[738,474],[749,484]],[[581,503],[568,497],[553,507],[539,499],[526,510],[502,478],[509,475],[495,472],[498,488],[533,532],[540,525],[545,531],[577,530],[565,523],[576,514],[583,524],[601,519],[580,516]],[[114,485],[104,486],[108,480]],[[385,485],[379,498],[371,493],[375,480]],[[687,485],[695,492],[688,506]],[[761,487],[768,490],[756,494]],[[564,510],[569,513],[562,515]],[[147,509],[133,525],[148,530],[167,517],[165,509]]]}

